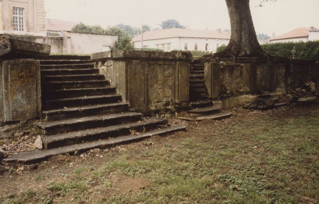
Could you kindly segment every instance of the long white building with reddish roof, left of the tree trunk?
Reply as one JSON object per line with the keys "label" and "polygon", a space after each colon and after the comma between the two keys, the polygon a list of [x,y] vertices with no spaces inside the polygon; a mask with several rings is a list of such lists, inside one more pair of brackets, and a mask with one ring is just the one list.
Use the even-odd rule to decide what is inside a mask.
{"label": "long white building with reddish roof, left of the tree trunk", "polygon": [[[201,50],[216,52],[217,47],[228,45],[228,32],[208,30],[190,30],[185,28],[170,28],[147,31],[143,33],[143,47],[171,50]],[[142,34],[132,39],[136,48],[142,47]]]}

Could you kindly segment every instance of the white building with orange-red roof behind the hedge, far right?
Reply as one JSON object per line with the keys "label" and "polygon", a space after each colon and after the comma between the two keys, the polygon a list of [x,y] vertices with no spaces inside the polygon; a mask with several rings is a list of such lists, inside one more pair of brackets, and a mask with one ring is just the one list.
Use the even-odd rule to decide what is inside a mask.
{"label": "white building with orange-red roof behind the hedge, far right", "polygon": [[315,27],[299,27],[269,40],[271,43],[315,41],[319,40],[319,30]]}

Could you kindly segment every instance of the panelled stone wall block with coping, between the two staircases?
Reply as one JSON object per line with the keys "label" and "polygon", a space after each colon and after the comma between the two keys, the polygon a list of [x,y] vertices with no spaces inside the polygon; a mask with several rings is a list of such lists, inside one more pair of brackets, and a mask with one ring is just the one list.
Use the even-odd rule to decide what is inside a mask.
{"label": "panelled stone wall block with coping, between the two staircases", "polygon": [[131,110],[152,115],[188,110],[190,53],[119,50],[91,59]]}

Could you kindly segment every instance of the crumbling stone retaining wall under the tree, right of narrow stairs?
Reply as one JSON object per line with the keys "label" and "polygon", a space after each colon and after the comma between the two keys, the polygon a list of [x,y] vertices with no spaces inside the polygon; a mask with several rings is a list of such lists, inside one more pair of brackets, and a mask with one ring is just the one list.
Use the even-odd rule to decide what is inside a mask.
{"label": "crumbling stone retaining wall under the tree, right of narrow stairs", "polygon": [[315,61],[246,61],[233,63],[212,60],[204,63],[204,80],[209,98],[221,100],[224,109],[255,100],[256,93],[284,96],[288,89],[302,87],[307,82],[319,82],[319,64]]}

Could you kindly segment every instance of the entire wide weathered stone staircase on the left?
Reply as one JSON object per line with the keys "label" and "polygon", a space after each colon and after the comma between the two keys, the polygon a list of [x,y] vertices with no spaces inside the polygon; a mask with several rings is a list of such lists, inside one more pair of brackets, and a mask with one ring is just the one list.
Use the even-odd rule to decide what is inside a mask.
{"label": "entire wide weathered stone staircase on the left", "polygon": [[104,75],[88,59],[42,60],[44,150],[23,152],[5,162],[29,163],[58,154],[83,152],[185,130],[166,119],[129,112]]}

